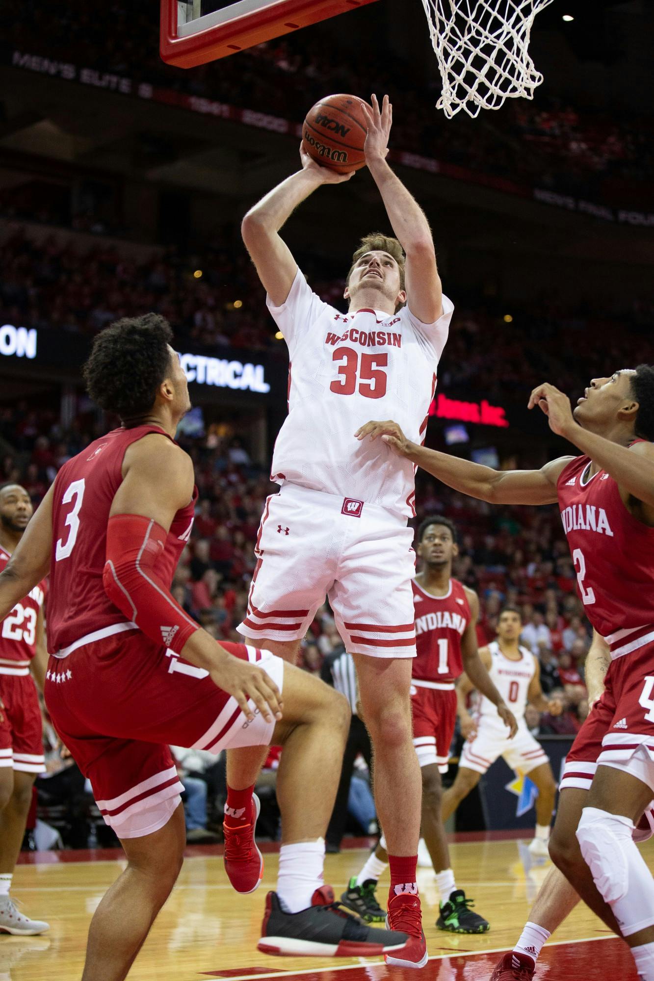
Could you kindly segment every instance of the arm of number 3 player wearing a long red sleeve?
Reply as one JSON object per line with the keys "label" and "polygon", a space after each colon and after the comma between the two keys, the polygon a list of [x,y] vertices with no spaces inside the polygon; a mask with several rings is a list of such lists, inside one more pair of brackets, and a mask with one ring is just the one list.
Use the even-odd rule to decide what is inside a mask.
{"label": "arm of number 3 player wearing a long red sleeve", "polygon": [[191,457],[170,439],[155,434],[128,448],[107,526],[105,592],[146,637],[159,645],[163,641],[206,670],[218,688],[237,699],[248,719],[254,717],[248,698],[267,722],[280,719],[281,695],[270,676],[201,630],[158,573],[170,526],[192,491]]}

